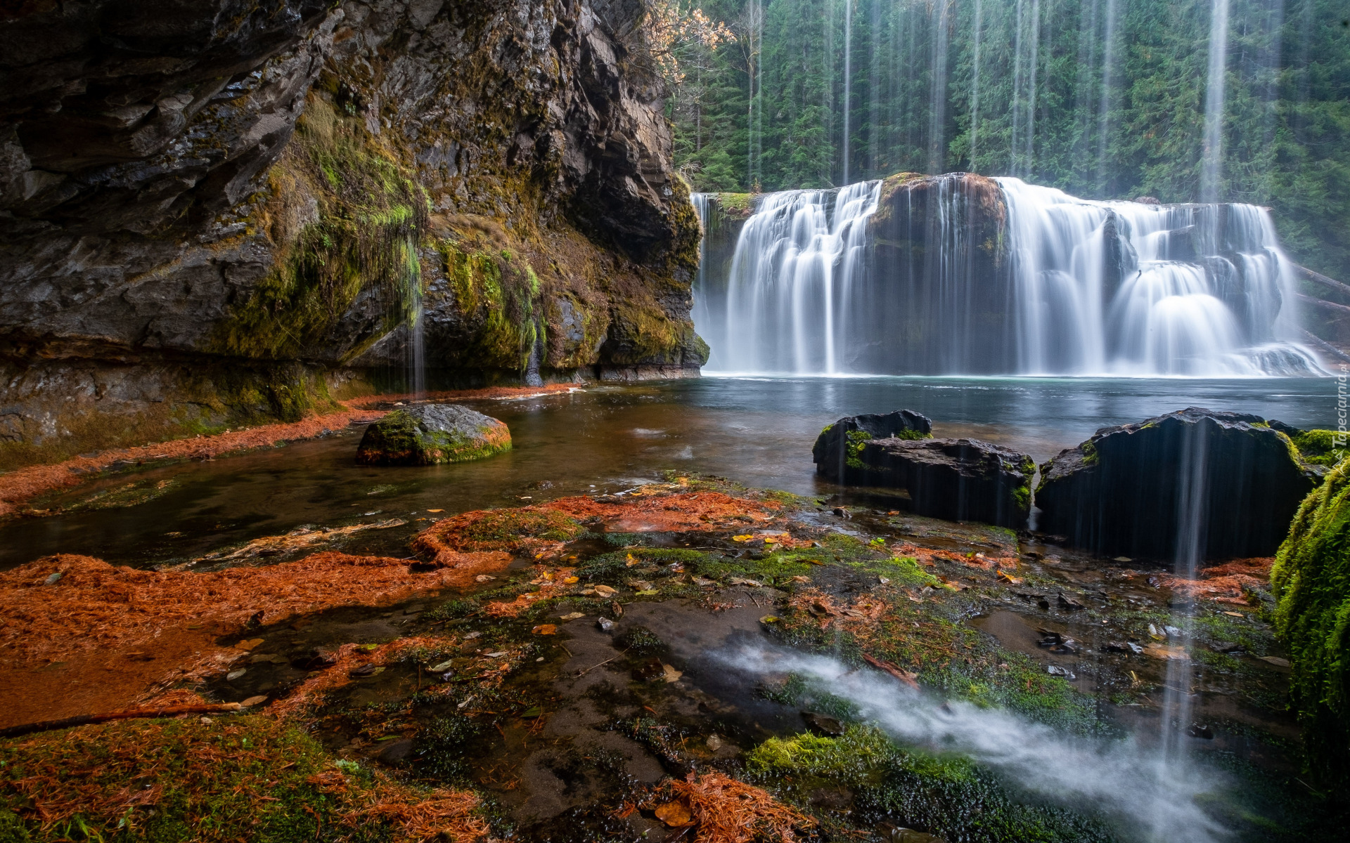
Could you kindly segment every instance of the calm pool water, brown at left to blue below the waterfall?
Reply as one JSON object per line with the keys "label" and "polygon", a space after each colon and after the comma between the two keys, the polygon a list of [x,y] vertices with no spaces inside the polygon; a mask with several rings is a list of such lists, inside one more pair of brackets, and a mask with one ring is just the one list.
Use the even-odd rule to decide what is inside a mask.
{"label": "calm pool water, brown at left to blue below the waterfall", "polygon": [[[107,477],[46,504],[69,506],[131,479],[174,483],[124,508],[0,526],[0,565],[47,553],[115,562],[185,558],[301,525],[427,518],[616,490],[664,469],[722,475],[799,494],[815,479],[811,444],[840,415],[900,407],[934,419],[937,436],[972,436],[1045,460],[1107,425],[1187,406],[1242,410],[1297,426],[1330,426],[1331,379],[702,378],[517,401],[475,402],[510,426],[514,449],[481,463],[377,468],[352,461],[359,429],[211,463]],[[394,553],[409,531],[370,530],[344,546]],[[366,544],[360,544],[366,542]]]}

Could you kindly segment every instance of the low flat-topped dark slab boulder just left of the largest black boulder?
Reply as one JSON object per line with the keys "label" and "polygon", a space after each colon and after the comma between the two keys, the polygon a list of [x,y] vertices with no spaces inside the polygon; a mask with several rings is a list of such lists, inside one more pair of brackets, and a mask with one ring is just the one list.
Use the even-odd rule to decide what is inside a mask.
{"label": "low flat-topped dark slab boulder just left of the largest black boulder", "polygon": [[903,488],[910,510],[946,521],[1025,527],[1035,461],[980,440],[868,440],[857,455],[873,486]]}

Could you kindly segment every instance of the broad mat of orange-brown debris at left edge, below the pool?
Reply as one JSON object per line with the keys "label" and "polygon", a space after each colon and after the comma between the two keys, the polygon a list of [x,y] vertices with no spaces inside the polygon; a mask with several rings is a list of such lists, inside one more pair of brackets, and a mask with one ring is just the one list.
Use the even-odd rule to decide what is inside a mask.
{"label": "broad mat of orange-brown debris at left edge, below the pool", "polygon": [[[62,576],[46,585],[53,573]],[[0,573],[0,726],[109,711],[216,676],[244,656],[216,641],[250,622],[385,606],[463,579],[333,552],[208,573],[46,557]]]}

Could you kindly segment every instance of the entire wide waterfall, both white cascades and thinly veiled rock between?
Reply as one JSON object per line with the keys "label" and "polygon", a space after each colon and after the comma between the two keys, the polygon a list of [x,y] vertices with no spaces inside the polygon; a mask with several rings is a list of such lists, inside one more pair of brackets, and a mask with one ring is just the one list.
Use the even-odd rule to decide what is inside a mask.
{"label": "entire wide waterfall, both white cascades and thinly veiled rock between", "polygon": [[[1295,267],[1262,208],[967,174],[903,182],[884,213],[880,196],[863,182],[759,198],[729,270],[705,262],[695,285],[707,371],[1324,374],[1295,341]],[[706,197],[695,208],[709,219]]]}

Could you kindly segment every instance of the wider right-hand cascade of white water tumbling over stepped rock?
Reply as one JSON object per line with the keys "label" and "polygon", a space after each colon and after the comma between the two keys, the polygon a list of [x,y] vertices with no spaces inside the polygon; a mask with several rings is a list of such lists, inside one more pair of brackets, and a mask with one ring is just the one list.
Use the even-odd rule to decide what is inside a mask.
{"label": "wider right-hand cascade of white water tumbling over stepped rock", "polygon": [[1292,341],[1293,266],[1264,209],[1094,202],[996,181],[1008,209],[1015,372],[1322,372]]}

